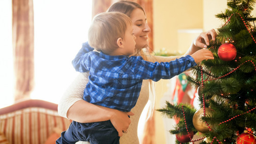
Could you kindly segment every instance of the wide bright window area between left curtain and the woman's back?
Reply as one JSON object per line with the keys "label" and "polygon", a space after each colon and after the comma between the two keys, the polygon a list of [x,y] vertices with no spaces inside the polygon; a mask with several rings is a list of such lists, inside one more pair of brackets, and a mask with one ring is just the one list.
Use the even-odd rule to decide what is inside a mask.
{"label": "wide bright window area between left curtain and the woman's back", "polygon": [[87,41],[91,0],[34,0],[35,89],[31,98],[58,103],[72,83],[71,61]]}

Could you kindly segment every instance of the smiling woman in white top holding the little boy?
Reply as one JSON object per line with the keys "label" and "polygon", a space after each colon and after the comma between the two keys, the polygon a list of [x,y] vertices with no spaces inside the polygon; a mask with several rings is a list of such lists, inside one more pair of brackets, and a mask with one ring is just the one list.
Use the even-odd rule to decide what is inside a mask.
{"label": "smiling woman in white top holding the little boy", "polygon": [[[143,8],[132,1],[119,1],[110,6],[108,12],[122,12],[128,15],[133,22],[134,35],[136,36],[136,52],[134,55],[142,56],[144,60],[151,62],[171,61],[182,57],[160,57],[151,56],[145,49],[148,47],[147,34],[151,31],[146,24],[146,14]],[[191,47],[186,52],[186,55],[193,54],[201,48],[206,48],[209,45],[209,40],[215,40],[217,36],[214,29],[201,33],[195,38]],[[206,45],[206,44],[207,45]],[[144,49],[143,49],[144,48]],[[115,109],[100,107],[90,104],[82,99],[83,91],[88,82],[88,73],[81,73],[75,79],[73,84],[62,96],[59,103],[59,114],[62,117],[78,121],[78,122],[97,122],[110,120],[117,129],[121,144],[139,144],[137,136],[137,126],[143,108],[145,107],[148,98],[150,97],[151,105],[154,106],[153,83],[149,80],[144,80],[139,99],[132,112],[122,112]],[[153,107],[151,108],[151,110]],[[129,119],[127,115],[130,115]],[[129,131],[127,132],[129,127]],[[123,134],[124,132],[124,134]]]}

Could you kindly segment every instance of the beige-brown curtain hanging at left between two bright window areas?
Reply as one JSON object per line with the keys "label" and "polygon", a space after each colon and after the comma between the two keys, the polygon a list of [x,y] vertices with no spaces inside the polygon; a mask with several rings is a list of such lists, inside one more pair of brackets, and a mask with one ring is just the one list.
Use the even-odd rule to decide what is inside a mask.
{"label": "beige-brown curtain hanging at left between two bright window areas", "polygon": [[34,86],[33,0],[12,0],[14,100],[29,98]]}

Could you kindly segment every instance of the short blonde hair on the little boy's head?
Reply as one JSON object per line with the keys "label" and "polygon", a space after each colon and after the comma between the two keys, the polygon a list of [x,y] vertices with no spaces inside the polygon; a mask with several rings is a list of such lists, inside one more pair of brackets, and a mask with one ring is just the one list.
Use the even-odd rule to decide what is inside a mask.
{"label": "short blonde hair on the little boy's head", "polygon": [[97,14],[88,31],[88,42],[92,48],[106,54],[118,48],[117,39],[124,38],[130,17],[121,12],[102,12]]}

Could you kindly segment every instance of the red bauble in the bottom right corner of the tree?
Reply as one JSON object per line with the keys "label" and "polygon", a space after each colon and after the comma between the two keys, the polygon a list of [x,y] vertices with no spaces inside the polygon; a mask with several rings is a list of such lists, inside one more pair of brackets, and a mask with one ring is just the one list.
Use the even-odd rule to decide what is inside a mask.
{"label": "red bauble in the bottom right corner of the tree", "polygon": [[256,138],[253,134],[244,131],[244,133],[241,133],[238,135],[236,139],[237,144],[256,144]]}

